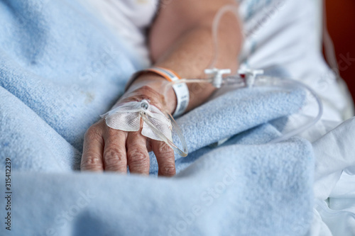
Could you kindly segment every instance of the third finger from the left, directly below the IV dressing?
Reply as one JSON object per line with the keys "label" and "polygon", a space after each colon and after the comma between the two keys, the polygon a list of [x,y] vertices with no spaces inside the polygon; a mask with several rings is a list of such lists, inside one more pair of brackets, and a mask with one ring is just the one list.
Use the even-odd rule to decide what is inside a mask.
{"label": "third finger from the left, directly below the IV dressing", "polygon": [[146,137],[141,132],[131,132],[126,141],[127,161],[129,172],[149,174],[149,155]]}

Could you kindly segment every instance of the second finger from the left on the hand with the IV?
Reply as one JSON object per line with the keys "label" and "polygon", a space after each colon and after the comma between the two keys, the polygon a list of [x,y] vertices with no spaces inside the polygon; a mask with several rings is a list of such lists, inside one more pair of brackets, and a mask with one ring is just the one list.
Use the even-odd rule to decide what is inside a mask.
{"label": "second finger from the left on the hand with the IV", "polygon": [[104,141],[105,171],[126,173],[126,132],[107,127],[104,133]]}

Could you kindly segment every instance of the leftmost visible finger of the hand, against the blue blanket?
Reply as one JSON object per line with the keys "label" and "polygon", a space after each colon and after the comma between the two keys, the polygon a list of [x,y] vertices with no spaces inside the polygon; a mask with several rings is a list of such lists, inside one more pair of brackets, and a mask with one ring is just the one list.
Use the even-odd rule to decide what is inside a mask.
{"label": "leftmost visible finger of the hand, against the blue blanket", "polygon": [[82,171],[100,172],[104,170],[102,163],[102,152],[104,151],[104,140],[102,129],[99,125],[93,125],[87,130],[84,136],[84,146],[82,149],[82,161],[80,169]]}

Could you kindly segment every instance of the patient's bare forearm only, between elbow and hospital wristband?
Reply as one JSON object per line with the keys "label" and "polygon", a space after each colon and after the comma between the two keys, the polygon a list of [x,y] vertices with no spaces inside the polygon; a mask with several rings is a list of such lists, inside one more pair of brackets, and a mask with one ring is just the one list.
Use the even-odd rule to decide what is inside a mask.
{"label": "patient's bare forearm only, between elbow and hospital wristband", "polygon": [[[216,9],[217,12],[218,9]],[[215,13],[215,12],[214,12]],[[212,21],[214,13],[201,18],[193,23],[192,27],[182,30],[179,35],[166,42],[162,38],[164,32],[163,23],[159,19],[153,25],[150,36],[150,47],[153,64],[172,69],[180,77],[185,79],[204,78],[204,69],[214,58],[214,45],[212,38]],[[241,26],[233,13],[226,13],[220,22],[219,28],[219,57],[214,67],[224,69],[229,68],[232,72],[238,67],[237,56],[241,47]],[[139,77],[134,84],[141,86],[146,82],[158,81],[160,78],[154,74],[145,74]],[[157,82],[158,83],[158,82]],[[151,83],[155,86],[154,83]],[[134,87],[134,86],[133,86]],[[158,85],[157,85],[158,87]],[[214,91],[212,84],[188,84],[190,90],[190,103],[187,111],[200,106],[206,101]],[[165,102],[170,112],[176,106],[176,97],[173,89],[165,95]]]}

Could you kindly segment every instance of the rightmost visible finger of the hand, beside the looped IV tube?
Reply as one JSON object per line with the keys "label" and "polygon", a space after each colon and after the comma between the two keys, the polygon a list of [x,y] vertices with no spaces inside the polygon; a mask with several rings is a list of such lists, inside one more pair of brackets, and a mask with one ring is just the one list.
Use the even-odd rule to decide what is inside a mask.
{"label": "rightmost visible finger of the hand, beside the looped IV tube", "polygon": [[175,170],[175,155],[171,147],[165,142],[152,140],[152,148],[158,162],[160,176],[174,176]]}

